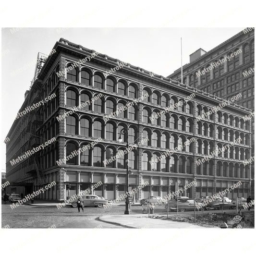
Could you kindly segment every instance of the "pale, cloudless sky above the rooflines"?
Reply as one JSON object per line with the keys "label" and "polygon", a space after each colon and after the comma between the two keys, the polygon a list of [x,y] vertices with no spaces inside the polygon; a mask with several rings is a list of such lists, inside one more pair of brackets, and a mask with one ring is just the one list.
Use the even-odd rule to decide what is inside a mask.
{"label": "pale, cloudless sky above the rooflines", "polygon": [[61,37],[149,72],[168,76],[189,55],[206,51],[242,31],[241,28],[12,28],[2,29],[1,170],[12,123],[34,77],[37,53],[49,54]]}

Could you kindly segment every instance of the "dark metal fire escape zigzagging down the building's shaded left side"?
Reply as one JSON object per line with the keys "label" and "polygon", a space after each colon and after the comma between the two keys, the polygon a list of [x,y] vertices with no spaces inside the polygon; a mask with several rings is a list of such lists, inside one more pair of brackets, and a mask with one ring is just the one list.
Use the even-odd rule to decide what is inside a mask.
{"label": "dark metal fire escape zigzagging down the building's shaded left side", "polygon": [[[39,75],[44,63],[46,62],[46,60],[47,60],[47,55],[38,53],[35,74],[34,74],[33,81],[31,82],[29,96],[28,96],[29,98],[28,98],[26,107],[32,106],[34,103],[36,104],[37,102],[40,101],[39,94],[40,94],[42,83],[40,80],[38,80],[38,75]],[[27,115],[28,115],[28,125],[26,127],[26,133],[29,134],[29,138],[27,141],[25,151],[31,150],[31,149],[33,149],[33,147],[37,147],[40,144],[43,144],[45,142],[45,141],[42,141],[36,134],[37,129],[42,124],[41,117],[37,115],[37,109],[28,112]],[[33,175],[36,172],[37,173],[37,184],[36,185],[41,187],[44,184],[46,184],[47,182],[46,182],[46,177],[45,177],[44,171],[40,167],[38,159],[39,159],[38,153],[32,154],[28,158],[26,173]]]}

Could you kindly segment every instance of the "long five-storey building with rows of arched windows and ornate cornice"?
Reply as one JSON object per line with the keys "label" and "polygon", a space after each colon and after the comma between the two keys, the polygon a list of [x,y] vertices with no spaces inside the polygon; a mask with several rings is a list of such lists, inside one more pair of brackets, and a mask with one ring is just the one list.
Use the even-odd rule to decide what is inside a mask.
{"label": "long five-storey building with rows of arched windows and ornate cornice", "polygon": [[[249,195],[251,164],[243,162],[251,155],[248,109],[63,38],[53,49],[41,60],[44,65],[37,63],[20,112],[55,97],[16,119],[7,135],[12,191],[27,194],[56,181],[38,197],[64,200],[101,182],[90,193],[123,195],[127,142],[118,138],[126,128],[129,186],[148,184],[136,199],[179,188],[184,196],[214,195],[238,182],[227,196]],[[203,114],[207,118],[201,120]],[[45,147],[13,164],[40,145]],[[184,189],[192,182],[195,186]]]}

